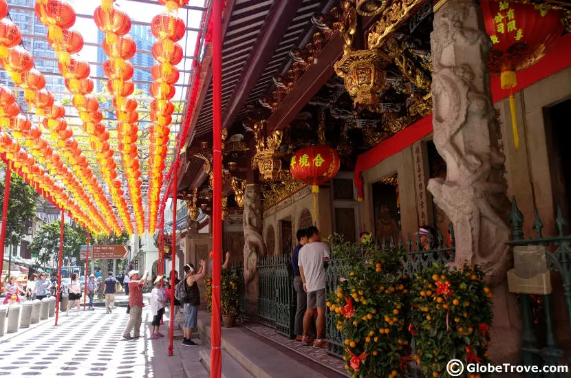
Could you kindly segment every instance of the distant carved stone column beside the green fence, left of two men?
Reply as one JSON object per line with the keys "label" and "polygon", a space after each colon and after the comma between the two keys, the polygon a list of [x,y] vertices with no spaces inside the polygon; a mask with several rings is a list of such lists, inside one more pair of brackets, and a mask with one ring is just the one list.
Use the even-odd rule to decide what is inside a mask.
{"label": "distant carved stone column beside the green fence, left of two men", "polygon": [[244,282],[248,315],[258,310],[258,256],[266,254],[266,244],[262,237],[261,191],[254,184],[246,185],[244,190]]}

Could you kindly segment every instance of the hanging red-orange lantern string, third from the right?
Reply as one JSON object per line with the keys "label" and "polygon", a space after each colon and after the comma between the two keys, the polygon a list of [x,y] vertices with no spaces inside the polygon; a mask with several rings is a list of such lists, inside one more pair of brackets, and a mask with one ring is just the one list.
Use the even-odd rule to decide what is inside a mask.
{"label": "hanging red-orange lantern string, third from the right", "polygon": [[[36,16],[42,23],[50,23],[51,19],[57,18],[56,12],[58,10],[60,12],[67,10],[65,14],[71,17],[72,12],[69,12],[67,3],[51,0],[50,4],[47,4],[50,5],[50,10],[45,10],[42,8],[41,2],[40,0],[36,2]],[[65,25],[69,25],[69,22],[66,21]],[[111,199],[116,205],[125,230],[131,234],[133,232],[131,216],[121,181],[117,179],[114,151],[108,142],[110,135],[105,126],[100,124],[103,120],[103,113],[99,110],[99,102],[94,96],[91,96],[91,92],[94,90],[94,82],[89,78],[91,69],[89,63],[73,56],[83,49],[83,36],[76,30],[63,29],[61,38],[52,38],[48,29],[47,41],[58,56],[58,69],[65,78],[67,91],[74,96],[72,104],[83,121],[83,131],[89,136],[89,146],[96,155],[101,176],[109,188]],[[110,207],[108,210],[112,214]],[[118,225],[116,232],[122,232]]]}

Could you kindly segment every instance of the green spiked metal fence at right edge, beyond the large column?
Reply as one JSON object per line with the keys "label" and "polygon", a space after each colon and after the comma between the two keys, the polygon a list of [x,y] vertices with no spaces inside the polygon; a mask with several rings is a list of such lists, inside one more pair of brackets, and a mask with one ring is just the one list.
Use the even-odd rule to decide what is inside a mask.
{"label": "green spiked metal fence at right edge, beyond the large column", "polygon": [[[555,227],[557,236],[543,236],[543,221],[539,212],[535,210],[533,229],[535,237],[525,238],[523,232],[524,215],[517,207],[515,197],[512,201],[510,214],[512,224],[512,238],[508,245],[526,246],[543,245],[546,247],[546,260],[552,271],[552,277],[561,276],[563,283],[563,300],[567,309],[568,322],[571,329],[571,234],[565,234],[565,219],[561,216],[561,209],[557,210]],[[554,288],[557,289],[557,288]],[[557,298],[560,300],[561,298]],[[563,350],[557,345],[554,335],[554,313],[552,309],[553,296],[531,296],[519,294],[519,310],[524,326],[522,335],[522,358],[524,365],[563,365],[571,364],[571,359],[565,361]],[[535,320],[540,320],[535,324]],[[540,319],[538,319],[541,317]],[[565,331],[563,331],[565,332]],[[568,331],[567,331],[568,332]],[[526,373],[526,377],[541,377],[541,373]],[[561,377],[560,373],[550,373],[548,377]],[[566,374],[565,376],[568,376]]]}

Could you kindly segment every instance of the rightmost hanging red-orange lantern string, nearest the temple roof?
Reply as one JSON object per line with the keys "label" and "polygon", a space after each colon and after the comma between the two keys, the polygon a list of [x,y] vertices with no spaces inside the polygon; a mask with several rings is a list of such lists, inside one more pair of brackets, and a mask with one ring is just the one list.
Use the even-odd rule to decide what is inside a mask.
{"label": "rightmost hanging red-orange lantern string, nearest the temple roof", "polygon": [[171,99],[175,96],[175,84],[180,73],[175,67],[183,57],[182,47],[177,43],[186,33],[184,21],[177,16],[178,8],[187,5],[188,0],[159,0],[166,5],[166,12],[153,17],[151,32],[157,38],[151,50],[157,61],[151,69],[153,83],[149,92],[151,121],[149,128],[149,232],[155,230],[160,206],[160,192],[164,184],[164,161],[168,153],[170,126],[175,110]]}

